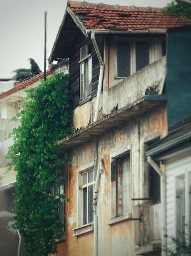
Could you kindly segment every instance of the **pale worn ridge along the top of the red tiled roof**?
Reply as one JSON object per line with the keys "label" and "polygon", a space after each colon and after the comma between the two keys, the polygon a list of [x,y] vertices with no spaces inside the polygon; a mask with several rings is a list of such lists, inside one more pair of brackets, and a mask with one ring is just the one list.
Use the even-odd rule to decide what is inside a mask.
{"label": "pale worn ridge along the top of the red tiled roof", "polygon": [[71,1],[68,0],[68,6],[72,6],[72,7],[97,7],[97,8],[108,8],[108,9],[115,9],[115,10],[162,10],[163,8],[159,8],[159,7],[138,7],[135,5],[130,5],[130,6],[125,6],[125,5],[108,5],[106,3],[89,3],[86,1],[80,2],[80,1]]}

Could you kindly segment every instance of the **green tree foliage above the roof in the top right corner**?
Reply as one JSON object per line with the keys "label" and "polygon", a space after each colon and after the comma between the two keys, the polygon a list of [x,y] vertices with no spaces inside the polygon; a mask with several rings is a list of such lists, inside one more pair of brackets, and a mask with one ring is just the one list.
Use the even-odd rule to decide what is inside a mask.
{"label": "green tree foliage above the roof in the top right corner", "polygon": [[168,3],[167,9],[165,9],[164,12],[167,13],[167,11],[170,15],[179,15],[181,20],[188,20],[191,18],[191,5],[179,2],[178,0]]}

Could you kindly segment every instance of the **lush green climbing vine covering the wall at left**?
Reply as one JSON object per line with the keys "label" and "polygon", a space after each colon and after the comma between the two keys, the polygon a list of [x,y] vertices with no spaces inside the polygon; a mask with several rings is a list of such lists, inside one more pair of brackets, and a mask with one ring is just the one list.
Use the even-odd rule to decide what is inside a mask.
{"label": "lush green climbing vine covering the wall at left", "polygon": [[27,98],[7,155],[17,172],[14,228],[23,235],[25,255],[47,256],[57,251],[55,239],[63,235],[59,198],[51,188],[67,158],[57,141],[73,129],[68,75],[56,73],[30,89]]}

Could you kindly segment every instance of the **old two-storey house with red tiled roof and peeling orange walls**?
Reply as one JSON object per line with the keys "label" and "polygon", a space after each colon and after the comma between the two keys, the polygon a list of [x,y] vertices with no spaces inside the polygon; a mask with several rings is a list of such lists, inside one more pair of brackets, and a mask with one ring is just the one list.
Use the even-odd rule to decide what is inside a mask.
{"label": "old two-storey house with red tiled roof and peeling orange walls", "polygon": [[70,59],[76,129],[58,142],[71,159],[59,256],[160,255],[164,168],[145,153],[191,114],[190,84],[180,81],[190,79],[190,40],[182,32],[175,47],[167,31],[189,24],[159,8],[68,1],[49,58]]}

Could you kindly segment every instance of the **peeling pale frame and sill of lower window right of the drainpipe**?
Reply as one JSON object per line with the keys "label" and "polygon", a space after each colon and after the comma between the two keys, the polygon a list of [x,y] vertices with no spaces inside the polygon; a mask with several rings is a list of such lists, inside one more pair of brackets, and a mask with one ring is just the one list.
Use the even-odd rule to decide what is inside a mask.
{"label": "peeling pale frame and sill of lower window right of the drainpipe", "polygon": [[[129,155],[130,157],[130,177],[129,182],[126,184],[128,188],[126,188],[129,191],[129,194],[125,195],[123,192],[124,186],[124,179],[122,178],[122,215],[117,216],[117,190],[116,190],[116,182],[112,181],[112,170],[111,165],[113,160],[118,158],[125,158],[126,155]],[[122,170],[123,173],[123,170]],[[117,177],[116,177],[117,178]],[[128,177],[126,177],[128,178]],[[123,220],[128,220],[132,218],[132,169],[131,169],[131,146],[128,144],[125,147],[121,147],[121,149],[118,149],[117,152],[113,152],[110,154],[110,200],[111,200],[111,207],[110,207],[110,221],[107,222],[107,225],[113,225],[115,223],[118,223]],[[123,200],[128,200],[127,205],[129,204],[129,209],[124,210],[123,208]],[[127,206],[126,205],[126,206]]]}

